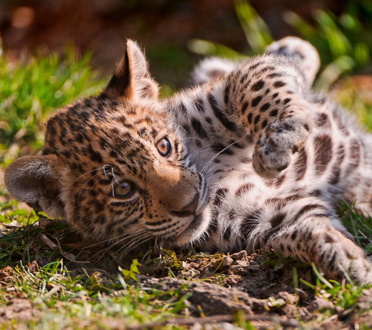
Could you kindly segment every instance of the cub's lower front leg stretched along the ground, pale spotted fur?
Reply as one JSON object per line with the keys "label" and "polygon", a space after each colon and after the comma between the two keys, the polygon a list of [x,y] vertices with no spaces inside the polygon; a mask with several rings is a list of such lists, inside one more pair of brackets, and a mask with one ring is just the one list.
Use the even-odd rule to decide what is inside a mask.
{"label": "cub's lower front leg stretched along the ground, pale spotted fur", "polygon": [[[355,245],[331,205],[288,179],[262,180],[253,171],[224,173],[210,202],[212,221],[203,251],[248,253],[274,249],[315,266],[327,277],[343,277],[339,264],[356,282],[372,282],[371,264]],[[343,235],[343,233],[345,233]]]}

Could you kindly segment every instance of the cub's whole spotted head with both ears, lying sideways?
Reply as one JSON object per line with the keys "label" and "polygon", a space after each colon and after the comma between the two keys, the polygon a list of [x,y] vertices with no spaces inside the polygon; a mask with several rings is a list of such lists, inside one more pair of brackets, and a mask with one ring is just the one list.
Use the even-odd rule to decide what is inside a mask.
{"label": "cub's whole spotted head with both ears, lying sideways", "polygon": [[13,161],[8,191],[87,239],[182,245],[208,225],[206,181],[128,40],[103,92],[57,110],[38,156]]}

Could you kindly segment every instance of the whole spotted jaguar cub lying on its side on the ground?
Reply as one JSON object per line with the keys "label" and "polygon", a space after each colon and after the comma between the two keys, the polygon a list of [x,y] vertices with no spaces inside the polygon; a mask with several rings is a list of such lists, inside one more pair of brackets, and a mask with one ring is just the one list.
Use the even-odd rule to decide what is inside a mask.
{"label": "whole spotted jaguar cub lying on its side on the ground", "polygon": [[244,63],[221,61],[160,101],[128,40],[105,89],[57,110],[42,152],[7,167],[7,189],[119,250],[273,248],[328,277],[342,266],[371,281],[334,207],[356,200],[372,213],[372,135],[311,91],[315,49],[287,38]]}

